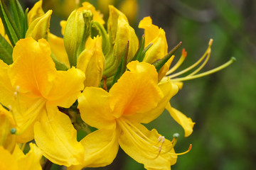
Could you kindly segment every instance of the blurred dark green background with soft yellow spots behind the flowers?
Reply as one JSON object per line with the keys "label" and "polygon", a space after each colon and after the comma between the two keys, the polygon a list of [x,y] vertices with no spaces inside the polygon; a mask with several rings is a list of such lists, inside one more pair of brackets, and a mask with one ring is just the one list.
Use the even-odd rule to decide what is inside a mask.
{"label": "blurred dark green background with soft yellow spots behind the flowers", "polygon": [[[34,0],[21,0],[30,7]],[[213,69],[235,57],[237,62],[208,77],[185,81],[183,89],[171,99],[174,108],[191,117],[196,125],[190,137],[183,137],[182,128],[164,112],[147,125],[171,139],[175,132],[181,137],[176,152],[183,152],[193,144],[191,152],[178,157],[172,169],[255,169],[256,167],[256,1],[255,0],[91,0],[105,13],[114,4],[137,28],[145,16],[166,31],[169,49],[182,41],[188,56],[181,69],[198,60],[213,38],[210,62],[203,69]],[[59,3],[59,4],[58,4]],[[104,4],[105,3],[105,4]],[[45,11],[52,8],[50,31],[60,35],[59,21],[73,11],[74,1],[44,0]],[[104,5],[102,5],[104,4]],[[179,56],[181,50],[176,52]],[[177,57],[178,58],[178,57]],[[53,165],[52,169],[63,169]],[[100,169],[139,170],[122,149],[113,164]]]}

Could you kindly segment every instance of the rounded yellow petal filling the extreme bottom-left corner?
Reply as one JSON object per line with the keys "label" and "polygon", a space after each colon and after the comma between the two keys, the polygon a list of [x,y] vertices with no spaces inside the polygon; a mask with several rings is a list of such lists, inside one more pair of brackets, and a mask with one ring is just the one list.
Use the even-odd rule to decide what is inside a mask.
{"label": "rounded yellow petal filling the extreme bottom-left corner", "polygon": [[0,153],[0,169],[18,170],[16,159],[8,150],[0,146]]}

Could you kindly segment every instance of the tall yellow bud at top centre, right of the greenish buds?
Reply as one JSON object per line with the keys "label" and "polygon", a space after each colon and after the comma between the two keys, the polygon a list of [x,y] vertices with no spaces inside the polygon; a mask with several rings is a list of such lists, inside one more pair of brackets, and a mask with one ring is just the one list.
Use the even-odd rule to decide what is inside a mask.
{"label": "tall yellow bud at top centre, right of the greenish buds", "polygon": [[106,77],[111,77],[117,70],[127,42],[129,41],[127,62],[130,62],[134,57],[139,42],[134,29],[129,26],[124,13],[118,11],[113,6],[110,6],[110,18],[107,28],[110,35],[110,52],[105,56],[106,68],[103,74]]}

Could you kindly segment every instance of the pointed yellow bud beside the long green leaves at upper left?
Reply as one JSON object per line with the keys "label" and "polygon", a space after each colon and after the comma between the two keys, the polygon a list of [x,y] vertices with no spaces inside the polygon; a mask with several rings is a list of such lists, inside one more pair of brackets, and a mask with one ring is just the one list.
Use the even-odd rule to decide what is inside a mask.
{"label": "pointed yellow bud beside the long green leaves at upper left", "polygon": [[26,38],[32,37],[34,40],[44,38],[47,40],[50,27],[50,16],[52,13],[53,11],[49,10],[43,16],[32,21],[32,23],[28,26]]}

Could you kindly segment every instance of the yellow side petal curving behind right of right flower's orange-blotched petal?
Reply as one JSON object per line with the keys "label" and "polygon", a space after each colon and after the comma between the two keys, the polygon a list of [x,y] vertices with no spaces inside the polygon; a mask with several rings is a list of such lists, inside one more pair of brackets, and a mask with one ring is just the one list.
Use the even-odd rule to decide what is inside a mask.
{"label": "yellow side petal curving behind right of right flower's orange-blotched petal", "polygon": [[173,97],[178,92],[178,87],[176,84],[171,83],[170,80],[162,81],[159,83],[159,88],[164,94],[164,98],[162,98],[161,101],[157,103],[156,108],[153,108],[150,111],[144,113],[137,113],[136,115],[124,115],[124,117],[127,118],[127,120],[130,122],[137,123],[150,123],[152,120],[158,118],[159,115],[163,113],[164,108],[166,107],[167,103],[169,103],[171,97]]}

